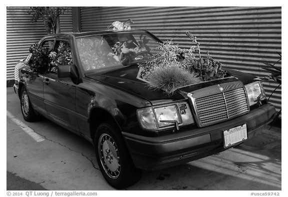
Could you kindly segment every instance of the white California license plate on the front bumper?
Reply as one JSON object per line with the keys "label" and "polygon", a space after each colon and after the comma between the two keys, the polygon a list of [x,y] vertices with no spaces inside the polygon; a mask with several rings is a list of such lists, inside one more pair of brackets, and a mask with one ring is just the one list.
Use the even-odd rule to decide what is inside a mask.
{"label": "white California license plate on the front bumper", "polygon": [[224,148],[230,147],[238,142],[248,139],[247,125],[243,124],[229,130],[223,131]]}

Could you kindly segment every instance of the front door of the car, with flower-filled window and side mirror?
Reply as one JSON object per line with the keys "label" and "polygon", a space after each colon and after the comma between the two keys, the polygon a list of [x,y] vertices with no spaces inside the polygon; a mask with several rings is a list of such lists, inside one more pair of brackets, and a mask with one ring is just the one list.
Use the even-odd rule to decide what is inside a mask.
{"label": "front door of the car, with flower-filled window and side mirror", "polygon": [[72,64],[70,44],[65,40],[56,40],[51,55],[50,69],[44,75],[44,105],[50,117],[74,132],[78,132],[75,115],[76,85],[70,77],[59,78],[57,67]]}

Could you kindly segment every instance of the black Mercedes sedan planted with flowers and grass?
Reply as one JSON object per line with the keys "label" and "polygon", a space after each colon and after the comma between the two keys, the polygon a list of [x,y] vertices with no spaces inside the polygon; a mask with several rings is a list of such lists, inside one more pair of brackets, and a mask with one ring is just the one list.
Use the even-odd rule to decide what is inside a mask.
{"label": "black Mercedes sedan planted with flowers and grass", "polygon": [[229,77],[184,86],[173,95],[148,88],[138,77],[138,63],[159,53],[153,50],[159,43],[133,29],[42,38],[15,66],[23,118],[44,116],[87,139],[115,188],[136,183],[142,169],[239,145],[272,121],[275,108],[251,74],[226,68]]}

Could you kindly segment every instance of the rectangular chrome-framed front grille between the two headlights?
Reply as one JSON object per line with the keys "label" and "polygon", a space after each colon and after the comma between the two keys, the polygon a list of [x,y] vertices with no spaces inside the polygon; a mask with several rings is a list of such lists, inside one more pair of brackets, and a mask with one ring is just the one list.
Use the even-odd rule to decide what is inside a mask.
{"label": "rectangular chrome-framed front grille between the two headlights", "polygon": [[199,126],[221,122],[249,111],[244,87],[193,99]]}

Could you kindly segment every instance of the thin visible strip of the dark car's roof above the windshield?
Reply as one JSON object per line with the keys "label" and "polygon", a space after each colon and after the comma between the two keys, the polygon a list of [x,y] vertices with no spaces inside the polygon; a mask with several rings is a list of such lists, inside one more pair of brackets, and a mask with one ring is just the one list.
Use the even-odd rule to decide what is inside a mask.
{"label": "thin visible strip of the dark car's roof above the windshield", "polygon": [[45,36],[44,38],[69,38],[69,37],[83,37],[83,36],[92,36],[92,35],[101,35],[101,34],[109,34],[109,33],[121,33],[121,32],[147,32],[145,30],[139,30],[139,29],[131,29],[131,30],[101,30],[101,31],[92,31],[92,32],[84,32],[84,33],[61,33],[61,34],[52,34]]}

